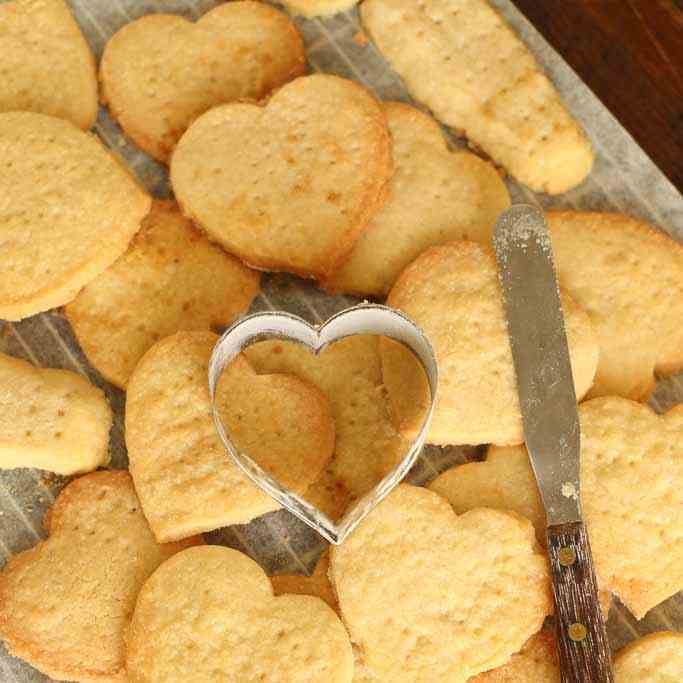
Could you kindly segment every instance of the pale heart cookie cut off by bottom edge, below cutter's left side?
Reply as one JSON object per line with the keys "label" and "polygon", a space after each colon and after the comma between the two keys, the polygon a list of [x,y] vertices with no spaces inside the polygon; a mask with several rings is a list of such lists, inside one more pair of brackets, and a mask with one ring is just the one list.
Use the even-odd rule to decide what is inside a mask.
{"label": "pale heart cookie cut off by bottom edge, below cutter's left side", "polygon": [[353,656],[322,600],[275,597],[251,559],[221,546],[164,563],[140,591],[128,635],[131,683],[350,683]]}

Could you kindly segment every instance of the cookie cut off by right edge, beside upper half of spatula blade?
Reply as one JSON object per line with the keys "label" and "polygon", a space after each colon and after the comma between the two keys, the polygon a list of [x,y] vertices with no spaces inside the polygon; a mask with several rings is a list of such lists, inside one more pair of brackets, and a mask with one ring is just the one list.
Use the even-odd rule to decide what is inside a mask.
{"label": "cookie cut off by right edge, beside upper half of spatula blade", "polygon": [[561,284],[595,327],[589,396],[647,400],[654,374],[683,370],[683,246],[623,214],[550,212]]}

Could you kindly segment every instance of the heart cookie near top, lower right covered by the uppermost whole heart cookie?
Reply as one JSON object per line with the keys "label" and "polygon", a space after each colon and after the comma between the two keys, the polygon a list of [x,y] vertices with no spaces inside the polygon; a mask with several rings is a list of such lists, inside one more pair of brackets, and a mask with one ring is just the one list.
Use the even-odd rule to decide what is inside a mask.
{"label": "heart cookie near top, lower right covered by the uppermost whole heart cookie", "polygon": [[150,14],[107,43],[102,99],[139,147],[168,161],[200,114],[225,102],[260,100],[300,76],[305,62],[294,25],[262,2],[228,2],[194,24]]}

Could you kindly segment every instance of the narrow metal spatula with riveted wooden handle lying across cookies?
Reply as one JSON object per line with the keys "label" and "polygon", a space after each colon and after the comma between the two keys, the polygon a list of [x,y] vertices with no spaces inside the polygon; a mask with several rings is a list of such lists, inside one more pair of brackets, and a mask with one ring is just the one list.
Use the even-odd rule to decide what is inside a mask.
{"label": "narrow metal spatula with riveted wooden handle lying across cookies", "polygon": [[498,218],[493,241],[524,439],[548,522],[562,681],[611,682],[609,641],[581,518],[576,395],[543,213],[511,207]]}

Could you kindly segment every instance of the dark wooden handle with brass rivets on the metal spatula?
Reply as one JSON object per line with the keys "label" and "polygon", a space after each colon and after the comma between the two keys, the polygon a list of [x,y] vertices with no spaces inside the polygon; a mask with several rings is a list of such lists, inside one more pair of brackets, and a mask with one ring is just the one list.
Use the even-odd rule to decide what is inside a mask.
{"label": "dark wooden handle with brass rivets on the metal spatula", "polygon": [[548,554],[562,682],[613,683],[586,527],[581,522],[548,527]]}

